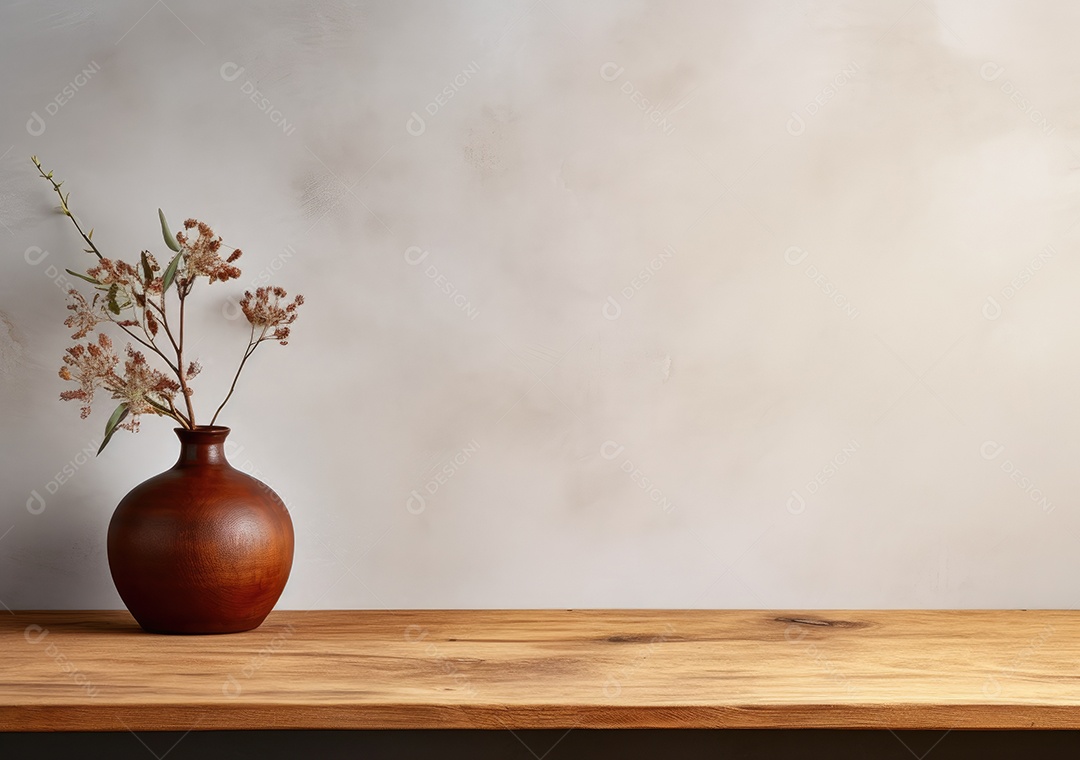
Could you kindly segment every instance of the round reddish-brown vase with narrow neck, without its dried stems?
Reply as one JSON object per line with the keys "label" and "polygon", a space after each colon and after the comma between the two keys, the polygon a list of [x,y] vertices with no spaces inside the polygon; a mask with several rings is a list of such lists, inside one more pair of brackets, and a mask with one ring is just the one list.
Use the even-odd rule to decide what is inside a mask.
{"label": "round reddish-brown vase with narrow neck, without its dried stems", "polygon": [[177,428],[179,460],[132,489],[112,514],[112,582],[145,630],[251,630],[285,588],[288,510],[269,486],[229,464],[228,434]]}

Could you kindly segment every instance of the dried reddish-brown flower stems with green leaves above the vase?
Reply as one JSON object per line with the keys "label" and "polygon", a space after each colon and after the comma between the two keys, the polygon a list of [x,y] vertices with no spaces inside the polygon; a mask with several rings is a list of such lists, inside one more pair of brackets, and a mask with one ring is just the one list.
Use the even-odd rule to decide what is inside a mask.
{"label": "dried reddish-brown flower stems with green leaves above the vase", "polygon": [[[77,342],[67,349],[59,375],[78,383],[79,388],[64,391],[60,398],[81,402],[83,418],[90,415],[94,392],[98,389],[108,391],[114,401],[120,402],[105,425],[105,437],[98,453],[117,430],[137,431],[141,415],[168,417],[189,430],[198,428],[191,404],[191,379],[199,375],[201,367],[184,355],[187,300],[200,277],[206,277],[211,283],[238,279],[240,269],[234,262],[242,252],[233,248],[228,258],[222,259],[218,253],[222,246],[221,239],[208,225],[197,219],[186,220],[184,231],[174,235],[159,208],[161,234],[173,252],[164,269],[149,250],[139,254],[136,264],[106,258],[93,241],[94,230],[84,232],[71,213],[68,205],[70,193],[60,190],[64,182],[53,179],[53,173],[45,172],[37,157],[31,157],[31,160],[59,195],[60,212],[71,219],[86,243],[84,250],[97,256],[96,264],[84,274],[67,270],[68,274],[93,285],[95,290],[90,300],[75,288],[68,291],[70,301],[67,308],[71,315],[64,324],[75,330],[71,337],[80,341],[97,330],[98,325],[109,324],[156,354],[168,368],[165,372],[150,366],[146,354],[129,343],[123,370],[118,371],[120,356],[112,340],[105,332],[98,332],[87,342]],[[170,290],[176,294],[176,308],[170,308],[166,300]],[[232,398],[240,374],[255,349],[265,341],[276,340],[282,345],[288,342],[289,325],[296,321],[303,296],[296,296],[292,301],[286,300],[286,296],[283,288],[269,286],[259,287],[255,293],[244,293],[240,308],[251,324],[247,348],[228,394],[211,419],[211,425],[217,422],[221,409]],[[177,395],[180,402],[176,401]]]}

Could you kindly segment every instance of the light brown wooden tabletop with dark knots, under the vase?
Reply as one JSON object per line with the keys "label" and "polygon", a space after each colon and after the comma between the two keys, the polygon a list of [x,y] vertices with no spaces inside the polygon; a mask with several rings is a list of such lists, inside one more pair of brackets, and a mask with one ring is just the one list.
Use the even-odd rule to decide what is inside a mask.
{"label": "light brown wooden tabletop with dark knots, under the vase", "polygon": [[1080,729],[1080,613],[0,612],[0,730]]}

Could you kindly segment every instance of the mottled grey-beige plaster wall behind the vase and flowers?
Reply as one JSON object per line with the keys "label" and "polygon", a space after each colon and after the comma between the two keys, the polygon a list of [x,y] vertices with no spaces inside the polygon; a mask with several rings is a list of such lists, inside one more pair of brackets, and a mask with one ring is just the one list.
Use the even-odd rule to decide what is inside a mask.
{"label": "mottled grey-beige plaster wall behind the vase and flowers", "polygon": [[[241,246],[307,297],[222,422],[281,605],[1072,607],[1080,8],[0,4],[0,601],[119,607],[170,465],[57,396],[66,267]],[[86,454],[91,452],[91,456]]]}

